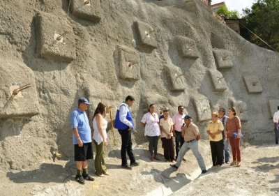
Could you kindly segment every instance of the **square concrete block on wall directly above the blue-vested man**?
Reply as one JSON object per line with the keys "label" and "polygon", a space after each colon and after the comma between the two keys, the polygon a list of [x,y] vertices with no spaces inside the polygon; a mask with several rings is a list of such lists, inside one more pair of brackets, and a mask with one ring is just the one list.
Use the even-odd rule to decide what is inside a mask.
{"label": "square concrete block on wall directly above the blue-vested man", "polygon": [[119,77],[122,80],[140,80],[140,54],[133,48],[118,46]]}

